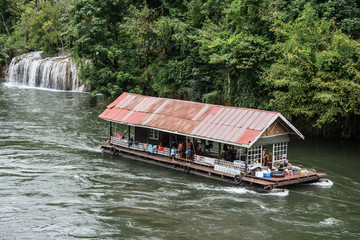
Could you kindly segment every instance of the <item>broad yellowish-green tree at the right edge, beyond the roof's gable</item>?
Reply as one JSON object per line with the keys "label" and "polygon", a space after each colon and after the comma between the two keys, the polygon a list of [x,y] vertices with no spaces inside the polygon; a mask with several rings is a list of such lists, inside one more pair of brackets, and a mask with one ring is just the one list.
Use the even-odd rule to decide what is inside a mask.
{"label": "broad yellowish-green tree at the right edge, beyond the roof's gable", "polygon": [[264,74],[271,106],[311,127],[335,124],[351,135],[344,121],[360,115],[360,43],[334,20],[320,19],[309,4],[294,22],[277,26],[284,39],[274,45],[280,57]]}

